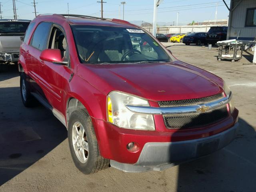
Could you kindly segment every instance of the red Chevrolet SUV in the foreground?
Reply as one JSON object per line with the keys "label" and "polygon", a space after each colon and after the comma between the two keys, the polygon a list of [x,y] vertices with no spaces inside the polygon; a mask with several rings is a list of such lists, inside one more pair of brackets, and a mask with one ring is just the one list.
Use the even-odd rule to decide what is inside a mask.
{"label": "red Chevrolet SUV in the foreground", "polygon": [[236,137],[224,81],[174,58],[146,30],[117,19],[40,15],[20,48],[20,91],[68,129],[85,174],[163,170]]}

